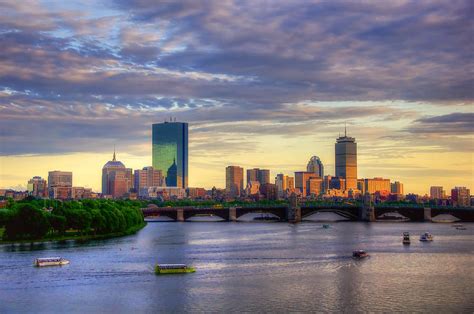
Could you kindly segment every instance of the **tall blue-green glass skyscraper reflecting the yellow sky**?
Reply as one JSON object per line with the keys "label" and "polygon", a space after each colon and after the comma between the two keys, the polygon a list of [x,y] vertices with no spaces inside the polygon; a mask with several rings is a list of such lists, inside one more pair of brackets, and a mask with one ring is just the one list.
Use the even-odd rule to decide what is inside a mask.
{"label": "tall blue-green glass skyscraper reflecting the yellow sky", "polygon": [[153,168],[160,170],[166,186],[188,187],[188,124],[156,123],[152,126]]}

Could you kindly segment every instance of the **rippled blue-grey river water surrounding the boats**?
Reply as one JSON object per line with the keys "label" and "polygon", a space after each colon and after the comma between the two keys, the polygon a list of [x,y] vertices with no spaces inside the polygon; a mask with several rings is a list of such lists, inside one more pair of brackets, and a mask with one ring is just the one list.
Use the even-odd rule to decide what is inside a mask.
{"label": "rippled blue-grey river water surrounding the boats", "polygon": [[[4,245],[0,312],[473,312],[474,224],[464,225],[150,223],[86,244]],[[433,242],[418,241],[425,231]],[[354,249],[371,257],[353,260]],[[44,256],[71,264],[32,266]],[[156,276],[156,262],[197,272]]]}

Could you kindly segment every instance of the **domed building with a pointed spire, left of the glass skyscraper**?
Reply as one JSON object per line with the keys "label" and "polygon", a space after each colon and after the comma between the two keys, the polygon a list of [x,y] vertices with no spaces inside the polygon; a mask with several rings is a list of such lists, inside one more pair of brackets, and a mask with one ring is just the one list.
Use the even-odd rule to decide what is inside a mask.
{"label": "domed building with a pointed spire, left of the glass skyscraper", "polygon": [[118,161],[114,151],[112,160],[102,168],[102,194],[121,198],[132,188],[132,169],[126,168],[121,161]]}

